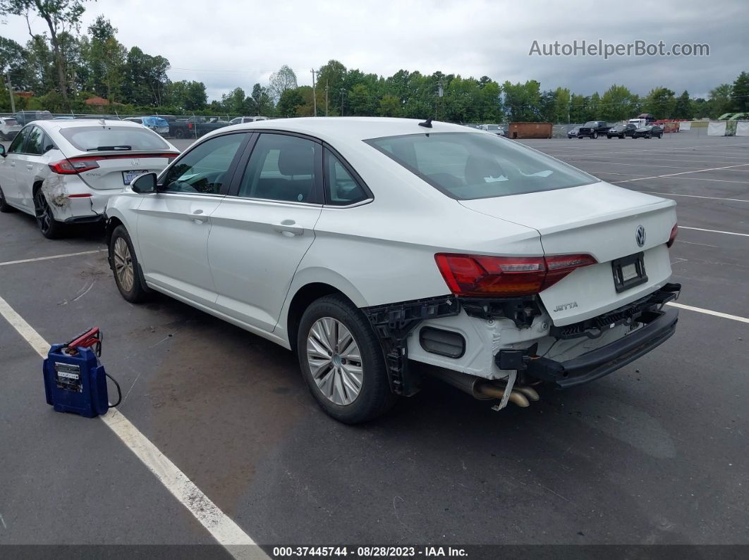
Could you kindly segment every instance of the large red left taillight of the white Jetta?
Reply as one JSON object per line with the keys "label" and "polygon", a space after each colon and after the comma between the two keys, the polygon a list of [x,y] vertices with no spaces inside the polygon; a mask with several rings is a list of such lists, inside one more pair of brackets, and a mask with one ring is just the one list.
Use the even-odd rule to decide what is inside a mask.
{"label": "large red left taillight of the white Jetta", "polygon": [[598,262],[583,254],[544,257],[437,253],[434,259],[454,295],[483,298],[537,294],[576,268]]}

